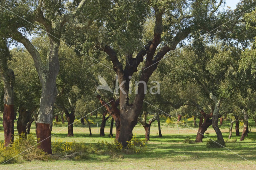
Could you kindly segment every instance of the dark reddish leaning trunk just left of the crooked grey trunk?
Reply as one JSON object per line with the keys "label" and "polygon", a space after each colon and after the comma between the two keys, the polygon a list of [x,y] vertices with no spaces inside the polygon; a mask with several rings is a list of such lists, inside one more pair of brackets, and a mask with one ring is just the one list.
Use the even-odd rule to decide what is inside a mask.
{"label": "dark reddish leaning trunk just left of the crooked grey trunk", "polygon": [[204,123],[202,123],[201,126],[199,126],[198,128],[196,142],[203,142],[204,132],[207,130],[209,126],[212,125],[212,119],[210,119],[212,117],[212,113],[206,114],[204,110],[201,110],[200,113],[202,114],[200,118],[204,117]]}

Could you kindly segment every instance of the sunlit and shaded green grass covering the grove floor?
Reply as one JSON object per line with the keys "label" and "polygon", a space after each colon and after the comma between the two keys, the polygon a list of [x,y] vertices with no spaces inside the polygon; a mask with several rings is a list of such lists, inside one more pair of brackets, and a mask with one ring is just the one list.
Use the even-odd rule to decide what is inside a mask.
{"label": "sunlit and shaded green grass covering the grove floor", "polygon": [[[92,118],[91,118],[92,119]],[[194,128],[192,121],[186,121],[186,124]],[[100,117],[94,118],[93,121],[100,125]],[[198,121],[197,121],[198,122]],[[196,131],[183,125],[179,125],[179,132],[176,125],[168,126],[165,120],[162,118],[162,134],[160,138],[158,136],[157,123],[154,122],[150,130],[150,141],[147,144],[145,152],[139,154],[124,154],[123,158],[110,158],[107,155],[91,154],[90,158],[84,161],[31,161],[22,164],[4,164],[0,166],[3,170],[23,170],[23,169],[53,169],[53,170],[70,170],[70,169],[256,169],[252,163],[237,156],[233,152],[225,148],[206,148],[207,139],[203,139],[203,143],[188,144],[183,143],[185,139],[194,140],[196,137]],[[228,139],[228,122],[224,121],[220,126],[220,130],[224,136],[224,139]],[[67,128],[58,132],[62,127],[54,126],[52,134],[58,132],[52,136],[52,142],[61,139],[63,141],[84,142],[87,144],[95,143],[98,141],[106,140],[110,142],[112,139],[108,137],[110,120],[107,122],[105,128],[105,136],[100,137],[97,126],[92,126],[92,136],[89,136],[89,130],[87,126],[76,125],[74,127],[74,137],[67,137]],[[239,141],[240,136],[235,136],[233,133],[232,138],[237,138],[237,142],[228,142],[226,147],[240,156],[250,160],[256,164],[256,129],[254,122],[250,122],[251,130],[248,137],[244,141]],[[67,123],[65,124],[67,126]],[[99,126],[100,128],[100,126]],[[198,127],[194,128],[195,130]],[[16,130],[16,127],[15,127]],[[234,129],[233,129],[234,131]],[[249,130],[250,131],[250,130]],[[30,132],[35,134],[35,126],[33,124]],[[115,132],[115,128],[113,129]],[[209,138],[216,139],[216,134],[212,129],[212,126],[206,131]],[[242,127],[240,127],[240,133]],[[17,133],[17,131],[15,131]],[[137,134],[138,138],[144,138],[144,128],[137,125],[133,131]],[[4,140],[4,132],[2,126],[0,126],[0,140]]]}

